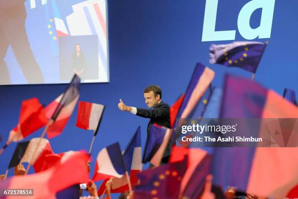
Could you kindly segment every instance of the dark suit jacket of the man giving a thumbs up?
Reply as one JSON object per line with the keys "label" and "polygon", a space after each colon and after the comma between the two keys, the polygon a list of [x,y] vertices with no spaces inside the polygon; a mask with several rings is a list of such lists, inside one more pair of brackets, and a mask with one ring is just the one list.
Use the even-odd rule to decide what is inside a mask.
{"label": "dark suit jacket of the man giving a thumbs up", "polygon": [[[170,121],[169,121],[169,105],[163,101],[161,101],[159,104],[157,104],[153,109],[143,109],[143,108],[137,108],[137,116],[143,117],[143,118],[149,118],[150,121],[148,123],[147,127],[147,136],[149,134],[151,125],[156,123],[160,126],[164,126],[167,128],[170,128]],[[168,162],[168,157],[170,154],[170,145],[168,144],[166,151],[164,153],[164,158],[162,159],[163,163]]]}

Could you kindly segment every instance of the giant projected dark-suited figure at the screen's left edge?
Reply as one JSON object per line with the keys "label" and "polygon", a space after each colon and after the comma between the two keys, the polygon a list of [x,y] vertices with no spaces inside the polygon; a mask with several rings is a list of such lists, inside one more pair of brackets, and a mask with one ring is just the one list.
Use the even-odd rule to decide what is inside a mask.
{"label": "giant projected dark-suited figure at the screen's left edge", "polygon": [[0,84],[10,84],[10,74],[4,61],[11,46],[28,83],[43,83],[25,28],[25,0],[0,0]]}

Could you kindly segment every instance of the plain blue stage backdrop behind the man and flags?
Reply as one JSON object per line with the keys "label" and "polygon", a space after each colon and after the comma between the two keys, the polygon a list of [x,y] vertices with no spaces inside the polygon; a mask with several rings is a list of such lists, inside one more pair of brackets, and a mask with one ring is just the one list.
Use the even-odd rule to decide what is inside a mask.
{"label": "plain blue stage backdrop behind the man and flags", "polygon": [[[242,6],[249,0],[220,0],[216,30],[236,30],[236,40],[244,40],[237,30]],[[298,92],[298,1],[276,0],[272,32],[255,81],[282,95],[285,87]],[[205,0],[109,0],[110,83],[81,85],[79,100],[101,103],[106,110],[93,146],[94,159],[103,147],[119,141],[124,149],[137,126],[142,130],[142,147],[146,141],[148,119],[119,111],[121,98],[127,105],[147,107],[143,89],[160,85],[163,100],[171,105],[186,90],[196,62],[216,72],[213,85],[221,87],[225,73],[247,78],[251,74],[239,68],[211,65],[209,46],[202,42]],[[251,26],[260,23],[261,10],[253,13]],[[0,134],[4,145],[9,131],[17,124],[22,100],[37,97],[48,104],[60,95],[66,84],[0,86]],[[75,127],[77,108],[62,135],[51,139],[56,153],[88,150],[92,132]],[[38,137],[41,131],[28,139]],[[12,143],[0,156],[0,173],[4,173],[15,150]],[[32,172],[33,170],[31,170]],[[13,174],[13,169],[9,175]]]}

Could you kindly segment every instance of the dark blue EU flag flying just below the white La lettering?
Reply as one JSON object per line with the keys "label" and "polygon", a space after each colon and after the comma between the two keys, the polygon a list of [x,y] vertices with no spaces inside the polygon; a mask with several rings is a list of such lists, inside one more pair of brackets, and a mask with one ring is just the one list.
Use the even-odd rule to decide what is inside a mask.
{"label": "dark blue EU flag flying just below the white La lettering", "polygon": [[209,61],[228,67],[239,67],[256,73],[266,43],[258,41],[235,41],[229,44],[212,44]]}

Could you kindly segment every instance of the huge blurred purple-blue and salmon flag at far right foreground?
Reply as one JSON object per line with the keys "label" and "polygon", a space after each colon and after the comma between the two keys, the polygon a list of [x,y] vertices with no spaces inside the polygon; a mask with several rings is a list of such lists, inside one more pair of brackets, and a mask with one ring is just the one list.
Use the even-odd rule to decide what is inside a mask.
{"label": "huge blurred purple-blue and salmon flag at far right foreground", "polygon": [[[222,118],[298,118],[298,108],[251,80],[227,76],[220,115]],[[292,136],[292,139],[281,137],[280,142],[297,140],[295,133]],[[221,148],[215,154],[213,164],[224,162],[224,165],[213,167],[214,182],[223,187],[235,186],[260,196],[284,198],[297,186],[297,147]]]}

